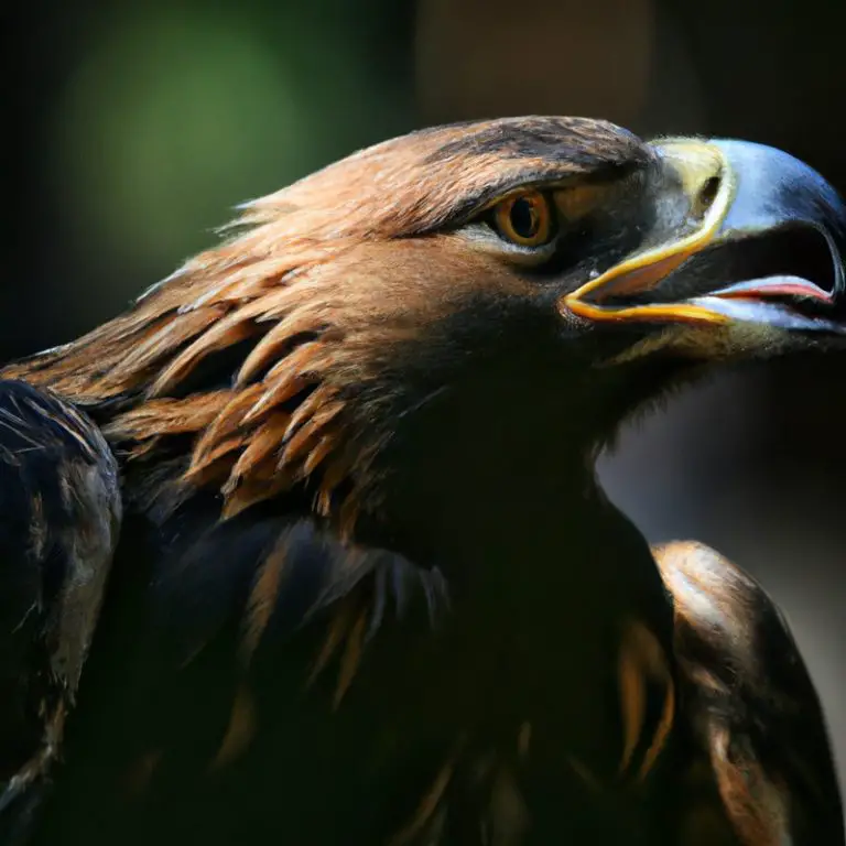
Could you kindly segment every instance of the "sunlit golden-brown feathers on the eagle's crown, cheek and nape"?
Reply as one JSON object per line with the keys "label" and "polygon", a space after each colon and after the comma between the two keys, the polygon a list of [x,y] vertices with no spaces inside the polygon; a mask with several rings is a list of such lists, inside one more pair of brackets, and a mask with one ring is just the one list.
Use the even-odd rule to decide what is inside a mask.
{"label": "sunlit golden-brown feathers on the eagle's crown, cheek and nape", "polygon": [[[611,124],[581,119],[558,121],[566,156],[518,148],[509,156],[507,142],[488,151],[486,132],[501,139],[510,122],[474,127],[469,141],[460,126],[388,141],[249,203],[232,225],[239,235],[186,262],[130,312],[3,372],[83,406],[118,401],[105,432],[130,460],[163,438],[196,433],[174,484],[219,485],[229,516],[327,463],[346,466],[340,455],[330,459],[344,441],[347,386],[367,383],[395,345],[424,335],[478,285],[527,291],[506,265],[435,232],[456,207],[469,214],[506,186],[560,182],[597,161],[643,155]],[[397,239],[429,232],[397,249]],[[247,339],[256,343],[231,389],[180,395],[204,360]],[[366,484],[367,469],[359,456],[345,473]],[[321,512],[338,482],[318,484]]]}

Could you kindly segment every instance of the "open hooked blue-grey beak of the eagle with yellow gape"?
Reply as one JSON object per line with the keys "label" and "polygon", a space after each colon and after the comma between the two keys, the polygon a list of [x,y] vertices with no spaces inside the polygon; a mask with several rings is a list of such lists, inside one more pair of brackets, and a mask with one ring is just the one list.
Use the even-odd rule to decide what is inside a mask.
{"label": "open hooked blue-grey beak of the eagle with yellow gape", "polygon": [[[594,323],[846,333],[835,318],[846,300],[846,206],[816,171],[742,141],[654,149],[672,187],[660,193],[652,243],[564,296],[563,310]],[[662,219],[675,223],[662,230]]]}

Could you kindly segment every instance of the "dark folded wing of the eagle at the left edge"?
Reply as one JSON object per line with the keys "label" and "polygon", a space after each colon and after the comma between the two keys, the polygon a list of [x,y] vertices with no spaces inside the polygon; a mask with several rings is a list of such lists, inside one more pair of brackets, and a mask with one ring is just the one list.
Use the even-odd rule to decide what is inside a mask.
{"label": "dark folded wing of the eagle at the left edge", "polygon": [[61,753],[121,521],[96,425],[0,381],[0,838],[17,843]]}

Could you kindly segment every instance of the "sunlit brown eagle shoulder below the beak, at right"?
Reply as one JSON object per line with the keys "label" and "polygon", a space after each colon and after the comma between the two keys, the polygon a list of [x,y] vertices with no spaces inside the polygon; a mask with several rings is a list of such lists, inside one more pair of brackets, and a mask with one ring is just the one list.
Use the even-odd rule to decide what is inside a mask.
{"label": "sunlit brown eagle shoulder below the beak, at right", "polygon": [[704,544],[672,542],[653,554],[674,605],[682,717],[735,837],[842,846],[825,715],[785,615]]}

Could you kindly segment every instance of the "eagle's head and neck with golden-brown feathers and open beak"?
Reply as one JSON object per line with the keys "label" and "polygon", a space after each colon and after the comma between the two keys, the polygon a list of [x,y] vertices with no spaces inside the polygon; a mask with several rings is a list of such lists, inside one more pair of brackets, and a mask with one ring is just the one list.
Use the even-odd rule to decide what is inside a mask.
{"label": "eagle's head and neck with golden-brown feathers and open beak", "polygon": [[758,144],[427,129],[246,204],[127,313],[6,376],[86,408],[145,501],[436,519],[554,496],[676,373],[837,343],[845,227],[817,173]]}

